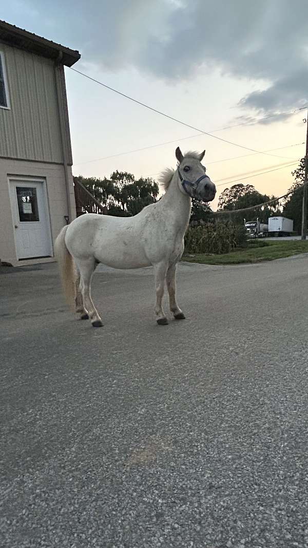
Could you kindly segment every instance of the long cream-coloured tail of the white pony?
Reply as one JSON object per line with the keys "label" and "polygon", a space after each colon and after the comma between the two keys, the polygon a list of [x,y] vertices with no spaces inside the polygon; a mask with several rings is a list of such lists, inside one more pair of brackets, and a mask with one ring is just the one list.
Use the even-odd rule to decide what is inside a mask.
{"label": "long cream-coloured tail of the white pony", "polygon": [[54,248],[55,257],[59,264],[60,276],[67,304],[73,307],[75,301],[75,264],[69,250],[65,244],[65,235],[68,225],[64,226],[56,237]]}

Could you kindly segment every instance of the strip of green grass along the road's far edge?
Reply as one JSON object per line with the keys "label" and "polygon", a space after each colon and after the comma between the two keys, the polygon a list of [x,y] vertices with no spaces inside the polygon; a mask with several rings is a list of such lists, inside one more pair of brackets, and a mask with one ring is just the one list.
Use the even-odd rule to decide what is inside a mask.
{"label": "strip of green grass along the road's far edge", "polygon": [[265,242],[256,240],[249,242],[245,249],[235,249],[231,253],[223,255],[196,254],[185,256],[182,260],[188,262],[201,262],[207,265],[238,265],[247,262],[273,261],[283,259],[298,253],[308,253],[308,241],[300,240]]}

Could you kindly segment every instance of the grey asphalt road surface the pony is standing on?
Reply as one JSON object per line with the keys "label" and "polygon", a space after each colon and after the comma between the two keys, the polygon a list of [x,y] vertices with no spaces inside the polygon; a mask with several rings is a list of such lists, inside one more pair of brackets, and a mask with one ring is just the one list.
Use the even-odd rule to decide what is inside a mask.
{"label": "grey asphalt road surface the pony is standing on", "polygon": [[2,548],[308,546],[308,255],[94,276],[77,321],[55,265],[0,276]]}

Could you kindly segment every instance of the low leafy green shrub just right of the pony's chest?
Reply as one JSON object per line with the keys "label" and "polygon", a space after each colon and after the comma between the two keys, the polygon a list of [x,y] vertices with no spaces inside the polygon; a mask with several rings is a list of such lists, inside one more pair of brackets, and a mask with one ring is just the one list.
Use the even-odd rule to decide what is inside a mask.
{"label": "low leafy green shrub just right of the pony's chest", "polygon": [[236,247],[246,247],[245,227],[231,223],[217,222],[203,226],[189,227],[185,235],[186,253],[220,255]]}

